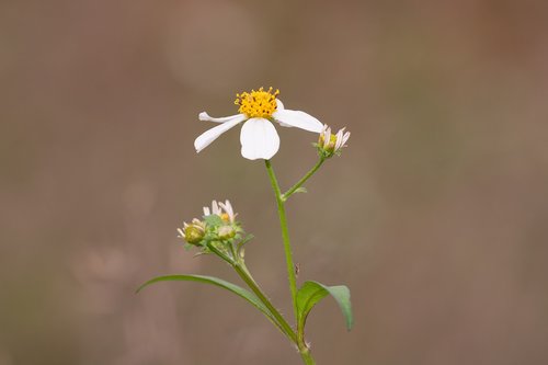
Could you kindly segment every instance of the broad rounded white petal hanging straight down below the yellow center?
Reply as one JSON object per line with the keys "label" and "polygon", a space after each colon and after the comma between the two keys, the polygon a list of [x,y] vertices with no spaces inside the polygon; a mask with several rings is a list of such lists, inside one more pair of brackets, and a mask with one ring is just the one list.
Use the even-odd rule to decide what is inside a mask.
{"label": "broad rounded white petal hanging straight down below the yellow center", "polygon": [[279,148],[276,128],[264,118],[251,118],[240,134],[241,155],[249,160],[271,159]]}

